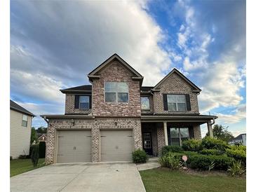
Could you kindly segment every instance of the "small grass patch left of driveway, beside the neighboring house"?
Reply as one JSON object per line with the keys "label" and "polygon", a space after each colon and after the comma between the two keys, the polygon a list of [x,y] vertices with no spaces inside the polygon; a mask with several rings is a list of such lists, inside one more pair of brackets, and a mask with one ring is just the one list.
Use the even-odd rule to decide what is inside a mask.
{"label": "small grass patch left of driveway, beside the neighboring house", "polygon": [[14,159],[10,161],[10,175],[13,177],[16,174],[28,172],[30,170],[37,169],[44,166],[44,158],[39,158],[37,167],[33,167],[33,163],[30,158],[28,159]]}

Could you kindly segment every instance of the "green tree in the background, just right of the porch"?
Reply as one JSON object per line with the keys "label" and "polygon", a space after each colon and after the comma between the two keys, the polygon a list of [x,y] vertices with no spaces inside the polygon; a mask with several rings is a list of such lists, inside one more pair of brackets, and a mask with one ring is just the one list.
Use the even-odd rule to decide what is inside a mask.
{"label": "green tree in the background, just right of the porch", "polygon": [[[213,126],[213,137],[216,139],[221,139],[225,142],[229,142],[230,139],[234,139],[234,136],[227,129],[229,127],[224,128],[222,125],[214,125]],[[206,136],[209,136],[209,132],[206,133]]]}

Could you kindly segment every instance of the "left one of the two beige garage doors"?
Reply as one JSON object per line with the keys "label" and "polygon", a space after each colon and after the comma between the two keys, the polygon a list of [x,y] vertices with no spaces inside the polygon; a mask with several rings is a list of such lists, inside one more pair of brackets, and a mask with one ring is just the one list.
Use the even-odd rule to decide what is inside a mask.
{"label": "left one of the two beige garage doors", "polygon": [[91,161],[90,130],[58,130],[58,163]]}

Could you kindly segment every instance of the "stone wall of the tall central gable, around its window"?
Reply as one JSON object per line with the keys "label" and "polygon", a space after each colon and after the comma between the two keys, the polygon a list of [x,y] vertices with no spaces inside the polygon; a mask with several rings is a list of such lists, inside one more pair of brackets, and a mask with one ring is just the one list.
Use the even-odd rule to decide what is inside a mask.
{"label": "stone wall of the tall central gable, around its window", "polygon": [[[114,60],[100,71],[100,79],[93,80],[93,116],[133,116],[140,117],[140,81],[133,81],[128,69]],[[105,82],[127,82],[129,102],[105,102]]]}

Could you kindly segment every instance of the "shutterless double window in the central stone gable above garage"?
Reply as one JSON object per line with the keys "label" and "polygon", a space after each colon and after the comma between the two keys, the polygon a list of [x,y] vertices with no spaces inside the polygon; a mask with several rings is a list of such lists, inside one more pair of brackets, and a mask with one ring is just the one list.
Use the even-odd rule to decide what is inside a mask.
{"label": "shutterless double window in the central stone gable above garage", "polygon": [[128,83],[106,82],[105,102],[128,102]]}

